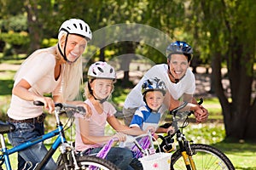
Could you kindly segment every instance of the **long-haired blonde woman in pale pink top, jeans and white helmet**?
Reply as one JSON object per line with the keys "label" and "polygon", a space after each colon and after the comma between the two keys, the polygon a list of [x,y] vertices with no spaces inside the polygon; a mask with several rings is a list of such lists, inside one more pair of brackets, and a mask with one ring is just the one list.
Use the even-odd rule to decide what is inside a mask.
{"label": "long-haired blonde woman in pale pink top, jeans and white helmet", "polygon": [[[90,39],[90,27],[83,20],[66,20],[59,30],[58,43],[50,48],[38,49],[20,66],[7,112],[9,122],[16,127],[15,132],[9,133],[12,145],[44,134],[43,108],[33,105],[33,101],[43,102],[44,109],[49,113],[54,111],[55,102],[66,102],[84,106],[90,114],[90,108],[83,101],[72,101],[79,93],[83,74],[81,55]],[[51,94],[51,97],[44,94]],[[33,169],[46,152],[43,143],[20,151],[18,169]],[[55,168],[51,159],[44,169]]]}

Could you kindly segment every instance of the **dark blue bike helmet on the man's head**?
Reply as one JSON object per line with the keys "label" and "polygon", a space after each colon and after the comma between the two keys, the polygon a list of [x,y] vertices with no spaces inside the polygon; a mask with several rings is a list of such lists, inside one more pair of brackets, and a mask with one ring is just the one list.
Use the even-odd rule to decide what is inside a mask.
{"label": "dark blue bike helmet on the man's head", "polygon": [[170,58],[172,54],[184,54],[188,57],[188,61],[190,61],[193,54],[193,48],[187,42],[172,42],[166,48],[166,57]]}

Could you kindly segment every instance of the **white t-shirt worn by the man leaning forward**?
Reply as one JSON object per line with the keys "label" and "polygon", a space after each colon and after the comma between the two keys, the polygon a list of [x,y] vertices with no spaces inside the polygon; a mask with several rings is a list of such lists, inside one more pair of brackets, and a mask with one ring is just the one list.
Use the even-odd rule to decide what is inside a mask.
{"label": "white t-shirt worn by the man leaning forward", "polygon": [[145,80],[154,77],[157,77],[166,83],[166,89],[172,95],[173,99],[180,99],[183,94],[195,93],[195,76],[190,69],[187,69],[185,76],[179,82],[173,83],[168,77],[168,65],[154,65],[145,73],[140,82],[138,82],[135,88],[132,88],[131,92],[127,95],[124,104],[125,109],[132,109],[145,105],[143,101],[142,85]]}

